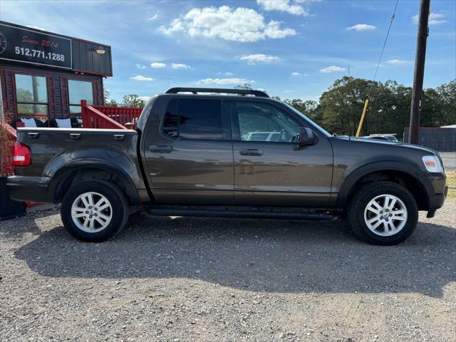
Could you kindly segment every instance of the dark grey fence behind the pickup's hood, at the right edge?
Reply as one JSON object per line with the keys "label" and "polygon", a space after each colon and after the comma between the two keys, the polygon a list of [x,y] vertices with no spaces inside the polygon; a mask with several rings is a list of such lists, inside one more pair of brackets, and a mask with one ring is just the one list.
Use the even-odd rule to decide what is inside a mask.
{"label": "dark grey fence behind the pickup's hood, at the right edge", "polygon": [[[404,141],[408,141],[410,128],[404,128]],[[456,128],[421,127],[418,145],[437,151],[456,151]]]}

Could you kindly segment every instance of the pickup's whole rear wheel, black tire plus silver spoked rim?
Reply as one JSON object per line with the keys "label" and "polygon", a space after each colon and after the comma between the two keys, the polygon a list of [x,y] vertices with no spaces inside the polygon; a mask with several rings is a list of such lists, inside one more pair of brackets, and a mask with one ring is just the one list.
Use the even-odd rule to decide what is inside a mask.
{"label": "pickup's whole rear wheel, black tire plus silver spoked rim", "polygon": [[102,242],[120,232],[127,222],[128,202],[113,183],[81,182],[68,190],[61,204],[63,225],[85,242]]}

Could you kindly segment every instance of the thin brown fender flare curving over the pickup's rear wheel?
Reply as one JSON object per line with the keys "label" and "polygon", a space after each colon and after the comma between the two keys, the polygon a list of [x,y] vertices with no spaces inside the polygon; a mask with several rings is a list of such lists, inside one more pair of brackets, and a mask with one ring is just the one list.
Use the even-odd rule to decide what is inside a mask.
{"label": "thin brown fender flare curving over the pickup's rear wheel", "polygon": [[60,169],[58,169],[55,174],[51,178],[51,182],[49,182],[48,186],[48,197],[56,202],[58,198],[57,194],[58,191],[61,190],[61,185],[65,182],[68,178],[68,175],[71,172],[75,172],[78,170],[83,169],[91,169],[91,170],[100,170],[105,172],[110,172],[123,183],[125,186],[125,195],[130,201],[130,204],[139,205],[140,204],[140,197],[138,195],[138,190],[136,189],[135,183],[130,178],[130,176],[123,170],[122,168],[118,167],[117,165],[113,165],[112,163],[106,162],[105,160],[100,159],[91,159],[91,160],[76,160],[74,162],[70,162]]}

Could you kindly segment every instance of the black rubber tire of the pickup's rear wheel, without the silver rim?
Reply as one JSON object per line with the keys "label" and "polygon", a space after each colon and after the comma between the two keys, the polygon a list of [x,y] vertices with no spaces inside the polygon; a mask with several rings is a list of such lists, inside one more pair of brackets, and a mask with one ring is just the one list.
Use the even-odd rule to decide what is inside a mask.
{"label": "black rubber tire of the pickup's rear wheel, without the silver rim", "polygon": [[[71,215],[73,202],[86,192],[96,192],[108,199],[111,209],[110,223],[97,232],[86,232],[76,225]],[[73,185],[63,197],[61,204],[62,222],[68,232],[84,242],[102,242],[110,239],[125,226],[129,215],[128,201],[123,192],[111,182],[89,180]],[[100,215],[101,216],[101,215]]]}

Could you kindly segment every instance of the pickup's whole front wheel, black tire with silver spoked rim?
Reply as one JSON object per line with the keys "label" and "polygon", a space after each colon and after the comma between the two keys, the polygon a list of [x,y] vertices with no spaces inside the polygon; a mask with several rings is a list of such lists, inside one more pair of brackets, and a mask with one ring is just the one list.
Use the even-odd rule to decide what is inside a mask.
{"label": "pickup's whole front wheel, black tire with silver spoked rim", "polygon": [[405,187],[393,182],[364,185],[347,210],[357,237],[370,244],[393,245],[407,239],[418,223],[418,206]]}

